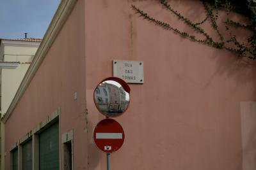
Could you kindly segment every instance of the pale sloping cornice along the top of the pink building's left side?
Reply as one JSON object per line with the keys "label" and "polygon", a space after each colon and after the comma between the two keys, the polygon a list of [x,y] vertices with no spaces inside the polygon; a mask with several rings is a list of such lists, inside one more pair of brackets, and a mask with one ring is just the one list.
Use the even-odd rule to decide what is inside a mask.
{"label": "pale sloping cornice along the top of the pink building's left side", "polygon": [[56,11],[54,17],[52,18],[51,24],[49,25],[44,38],[38,47],[38,50],[35,53],[35,57],[31,62],[27,73],[25,74],[22,82],[20,83],[19,89],[17,90],[15,97],[12,100],[8,110],[4,114],[3,118],[1,118],[2,122],[5,124],[8,118],[12,115],[13,110],[19,103],[22,95],[24,94],[25,90],[27,89],[30,81],[32,80],[33,76],[45,58],[45,55],[51,48],[54,39],[58,36],[58,33],[61,31],[61,28],[65,24],[68,16],[70,15],[71,11],[73,10],[77,0],[62,0],[58,10]]}

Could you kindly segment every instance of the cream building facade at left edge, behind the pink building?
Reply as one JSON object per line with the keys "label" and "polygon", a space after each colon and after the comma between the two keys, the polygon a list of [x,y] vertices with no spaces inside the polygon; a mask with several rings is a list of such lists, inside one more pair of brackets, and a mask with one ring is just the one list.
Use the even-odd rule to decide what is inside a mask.
{"label": "cream building facade at left edge, behind the pink building", "polygon": [[[20,82],[35,56],[41,39],[0,39],[0,94],[1,117],[12,103]],[[1,123],[1,148],[4,147],[4,124]],[[1,169],[4,169],[4,153],[1,150]]]}

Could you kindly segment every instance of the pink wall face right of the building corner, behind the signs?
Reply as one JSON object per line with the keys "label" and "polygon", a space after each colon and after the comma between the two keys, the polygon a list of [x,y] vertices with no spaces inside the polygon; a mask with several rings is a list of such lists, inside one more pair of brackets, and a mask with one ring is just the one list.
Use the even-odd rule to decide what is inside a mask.
{"label": "pink wall face right of the building corner, behind the signs", "polygon": [[[195,22],[205,18],[199,1],[169,2]],[[157,1],[86,1],[88,136],[103,118],[93,90],[113,75],[113,59],[142,60],[145,83],[130,84],[129,110],[116,118],[125,143],[111,156],[112,168],[242,169],[240,102],[256,99],[255,62],[180,38],[139,17],[131,4],[191,32]],[[106,169],[106,155],[88,139],[88,169]]]}

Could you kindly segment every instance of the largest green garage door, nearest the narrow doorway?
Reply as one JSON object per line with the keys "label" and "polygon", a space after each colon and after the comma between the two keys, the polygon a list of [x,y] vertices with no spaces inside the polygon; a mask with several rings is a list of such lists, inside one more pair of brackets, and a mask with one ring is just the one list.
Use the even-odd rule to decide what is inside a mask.
{"label": "largest green garage door, nearest the narrow doorway", "polygon": [[40,170],[58,170],[60,167],[58,122],[39,134],[39,167]]}

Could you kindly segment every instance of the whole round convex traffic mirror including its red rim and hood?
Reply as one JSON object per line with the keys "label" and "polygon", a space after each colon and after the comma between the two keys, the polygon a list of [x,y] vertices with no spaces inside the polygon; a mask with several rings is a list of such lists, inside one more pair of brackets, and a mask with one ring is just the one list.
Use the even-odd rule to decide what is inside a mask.
{"label": "whole round convex traffic mirror including its red rim and hood", "polygon": [[94,103],[106,117],[118,117],[128,108],[130,102],[129,85],[117,77],[102,80],[94,90]]}

